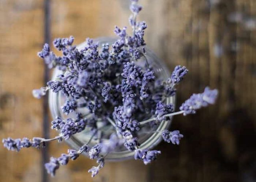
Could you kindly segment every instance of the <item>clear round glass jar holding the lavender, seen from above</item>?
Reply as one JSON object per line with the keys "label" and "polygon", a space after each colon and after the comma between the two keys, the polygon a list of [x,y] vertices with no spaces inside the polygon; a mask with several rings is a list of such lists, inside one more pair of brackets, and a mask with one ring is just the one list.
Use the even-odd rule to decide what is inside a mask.
{"label": "clear round glass jar holding the lavender, seen from above", "polygon": [[[101,47],[102,44],[109,43],[109,45],[112,45],[116,39],[110,38],[110,37],[100,37],[98,39],[94,39],[94,42],[99,43],[99,47]],[[78,50],[82,50],[86,46],[86,42],[83,42],[77,46]],[[159,79],[162,80],[167,80],[170,71],[167,69],[166,65],[163,63],[162,60],[157,58],[157,56],[147,47],[146,49],[146,58],[147,62],[153,67],[155,76]],[[144,63],[145,60],[140,59],[136,62],[136,64],[140,65]],[[63,74],[62,71],[58,70],[57,68],[53,71],[52,75],[52,80],[56,80],[57,75]],[[65,115],[62,110],[61,106],[63,106],[65,102],[65,96],[61,94],[61,92],[54,93],[52,91],[49,92],[49,107],[50,107],[50,112],[52,114],[52,117],[55,118],[56,116],[59,116],[63,119],[66,118],[72,118],[72,114],[69,114],[68,116]],[[166,104],[172,103],[173,106],[175,106],[175,96],[169,97],[165,99]],[[84,112],[83,114],[86,114],[86,111],[80,111]],[[157,129],[155,131],[157,132],[150,132],[148,131],[148,127],[142,127],[140,131],[138,131],[138,141],[141,144],[140,149],[151,149],[155,147],[161,140],[161,131],[168,129],[171,123],[172,117],[170,117],[170,120],[168,122],[161,122]],[[138,121],[139,122],[139,121]],[[88,129],[87,129],[88,130]],[[75,150],[79,150],[79,148],[86,144],[90,138],[91,138],[91,133],[87,130],[84,130],[78,134],[73,135],[71,138],[69,138],[66,142]],[[106,127],[103,128],[103,132],[115,132],[112,129]],[[89,143],[90,146],[93,146],[96,144],[97,141],[91,141]],[[85,154],[86,155],[86,154]],[[134,152],[128,151],[125,147],[123,147],[119,151],[113,151],[106,155],[105,160],[108,161],[119,161],[119,160],[124,160],[124,159],[129,159],[134,156]]]}

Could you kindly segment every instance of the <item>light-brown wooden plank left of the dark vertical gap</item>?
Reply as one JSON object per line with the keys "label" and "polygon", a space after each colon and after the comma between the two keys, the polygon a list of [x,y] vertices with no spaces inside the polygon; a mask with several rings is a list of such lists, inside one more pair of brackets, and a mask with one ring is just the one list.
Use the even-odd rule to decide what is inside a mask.
{"label": "light-brown wooden plank left of the dark vertical gap", "polygon": [[[42,103],[31,90],[42,84],[37,57],[43,41],[42,0],[0,1],[0,138],[41,135]],[[0,181],[41,181],[40,151],[0,147]]]}

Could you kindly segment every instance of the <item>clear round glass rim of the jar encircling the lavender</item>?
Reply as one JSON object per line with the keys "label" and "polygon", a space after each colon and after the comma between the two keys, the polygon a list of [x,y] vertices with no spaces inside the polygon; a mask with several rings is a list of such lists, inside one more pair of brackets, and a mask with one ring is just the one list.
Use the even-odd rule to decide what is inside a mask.
{"label": "clear round glass rim of the jar encircling the lavender", "polygon": [[[115,38],[112,37],[99,37],[97,39],[94,39],[95,42],[99,42],[99,44],[104,44],[104,43],[113,43],[116,41]],[[83,42],[77,46],[78,50],[82,50],[86,45],[86,42]],[[149,60],[154,64],[153,68],[155,72],[157,72],[163,79],[167,80],[169,76],[169,70],[167,69],[166,65],[159,59],[157,56],[147,47],[145,48],[146,50],[146,55]],[[57,68],[53,71],[52,75],[52,80],[55,80],[57,75],[63,73],[62,71],[58,70]],[[166,98],[165,100],[166,104],[173,104],[175,106],[175,96]],[[60,116],[61,118],[64,118],[64,114],[61,111],[61,94],[60,93],[54,93],[52,91],[49,92],[49,107],[50,107],[50,112],[52,114],[52,117],[55,118],[56,116]],[[148,134],[147,139],[145,139],[141,145],[140,149],[151,149],[158,145],[159,142],[161,142],[162,137],[161,137],[161,131],[169,128],[170,123],[172,121],[172,116],[170,117],[169,121],[163,121],[159,124],[157,127],[157,132],[154,132],[152,134]],[[66,142],[68,145],[70,145],[72,148],[75,150],[79,150],[79,148],[84,145],[81,141],[81,139],[78,139],[79,134],[76,134],[74,136],[71,136]],[[88,141],[89,139],[87,139]],[[85,154],[86,155],[86,154]],[[118,161],[118,160],[125,160],[125,159],[130,159],[134,156],[134,152],[125,150],[125,151],[113,151],[109,153],[106,157],[105,160],[108,161]]]}

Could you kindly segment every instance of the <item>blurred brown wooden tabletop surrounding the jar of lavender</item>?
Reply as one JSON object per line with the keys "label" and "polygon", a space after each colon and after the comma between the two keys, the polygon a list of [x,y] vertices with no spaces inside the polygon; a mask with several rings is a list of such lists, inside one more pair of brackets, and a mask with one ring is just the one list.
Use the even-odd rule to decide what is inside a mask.
{"label": "blurred brown wooden tabletop surrounding the jar of lavender", "polygon": [[[45,0],[46,1],[46,0]],[[44,84],[37,57],[45,41],[44,0],[0,0],[0,138],[42,136],[42,100],[31,95]],[[129,0],[52,0],[50,36],[113,36],[114,25],[128,25]],[[177,116],[172,129],[185,135],[179,146],[161,143],[150,165],[107,163],[91,178],[85,157],[63,166],[55,178],[41,172],[41,152],[10,152],[0,146],[3,182],[253,182],[256,181],[256,1],[141,0],[148,46],[172,70],[189,74],[178,86],[180,105],[205,86],[219,89],[215,106],[197,115]],[[56,133],[51,131],[50,135]],[[52,142],[49,155],[65,152]]]}

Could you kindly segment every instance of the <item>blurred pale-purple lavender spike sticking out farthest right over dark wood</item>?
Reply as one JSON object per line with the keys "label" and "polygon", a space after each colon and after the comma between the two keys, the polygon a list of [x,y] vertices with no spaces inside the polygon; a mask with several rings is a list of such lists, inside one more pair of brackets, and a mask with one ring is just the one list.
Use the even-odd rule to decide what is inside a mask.
{"label": "blurred pale-purple lavender spike sticking out farthest right over dark wood", "polygon": [[209,87],[204,89],[201,94],[193,94],[188,100],[186,100],[181,106],[180,110],[184,111],[183,115],[195,114],[196,110],[206,107],[209,104],[214,104],[218,96],[218,90],[210,90]]}

